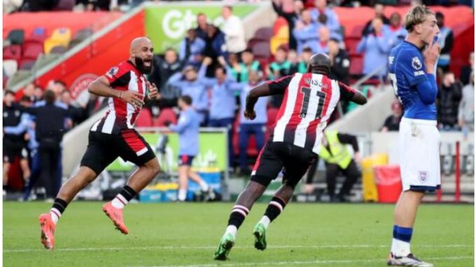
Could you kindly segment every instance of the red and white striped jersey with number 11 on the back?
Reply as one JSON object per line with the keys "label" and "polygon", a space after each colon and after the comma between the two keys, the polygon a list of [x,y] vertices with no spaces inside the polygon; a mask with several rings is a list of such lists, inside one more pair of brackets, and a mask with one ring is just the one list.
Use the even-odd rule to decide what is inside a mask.
{"label": "red and white striped jersey with number 11 on the back", "polygon": [[340,99],[354,89],[322,74],[293,74],[268,82],[272,94],[283,94],[271,139],[319,152],[322,132]]}

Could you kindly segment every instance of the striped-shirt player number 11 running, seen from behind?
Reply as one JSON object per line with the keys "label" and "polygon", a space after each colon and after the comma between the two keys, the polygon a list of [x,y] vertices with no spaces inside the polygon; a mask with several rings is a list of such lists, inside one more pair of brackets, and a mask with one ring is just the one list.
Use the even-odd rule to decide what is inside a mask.
{"label": "striped-shirt player number 11 running, seen from behind", "polygon": [[366,103],[366,97],[357,90],[329,78],[330,66],[327,55],[313,55],[308,64],[308,73],[264,83],[247,95],[245,117],[250,120],[256,118],[254,104],[259,97],[284,95],[284,100],[277,114],[273,134],[259,153],[251,181],[233,207],[228,228],[214,253],[214,259],[227,259],[242,221],[284,167],[283,184],[254,228],[254,247],[266,249],[268,225],[284,210],[296,184],[318,157],[322,132],[338,101],[343,99],[357,104]]}

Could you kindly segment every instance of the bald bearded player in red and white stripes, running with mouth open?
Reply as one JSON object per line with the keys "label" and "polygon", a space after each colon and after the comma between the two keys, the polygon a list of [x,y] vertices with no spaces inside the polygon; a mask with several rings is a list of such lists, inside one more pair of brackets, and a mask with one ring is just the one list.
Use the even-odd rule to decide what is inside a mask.
{"label": "bald bearded player in red and white stripes, running with mouth open", "polygon": [[160,170],[155,153],[133,128],[142,106],[158,97],[158,89],[154,84],[150,84],[144,75],[151,72],[152,61],[151,41],[139,37],[130,44],[128,61],[111,68],[89,85],[90,93],[109,97],[109,110],[90,129],[88,149],[81,160],[78,174],[63,184],[50,212],[39,217],[41,242],[46,249],[53,249],[55,245],[56,223],[68,203],[119,156],[135,163],[139,169],[132,174],[121,193],[106,203],[102,210],[119,231],[128,233],[123,222],[123,207],[142,191]]}

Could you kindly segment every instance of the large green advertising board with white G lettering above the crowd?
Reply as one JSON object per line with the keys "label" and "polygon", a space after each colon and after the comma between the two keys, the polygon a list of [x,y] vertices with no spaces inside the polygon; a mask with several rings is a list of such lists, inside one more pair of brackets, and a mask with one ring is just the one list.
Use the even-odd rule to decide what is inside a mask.
{"label": "large green advertising board with white G lettering above the crowd", "polygon": [[[196,15],[205,13],[209,22],[221,26],[221,9],[216,4],[163,4],[145,8],[145,33],[151,39],[155,53],[163,53],[166,48],[179,48],[186,30],[196,27]],[[233,14],[240,18],[256,10],[256,4],[239,4],[233,6]]]}

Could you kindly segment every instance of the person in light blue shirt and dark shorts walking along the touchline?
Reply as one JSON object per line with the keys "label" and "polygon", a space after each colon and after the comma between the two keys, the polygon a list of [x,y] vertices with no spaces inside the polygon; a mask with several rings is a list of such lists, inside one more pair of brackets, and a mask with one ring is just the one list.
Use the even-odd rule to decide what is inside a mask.
{"label": "person in light blue shirt and dark shorts walking along the touchline", "polygon": [[178,177],[179,190],[178,200],[186,200],[186,190],[188,189],[188,177],[201,186],[201,190],[207,192],[209,198],[213,198],[212,189],[203,181],[196,172],[191,171],[193,158],[199,152],[200,118],[198,113],[191,107],[191,97],[181,96],[178,100],[178,107],[181,109],[180,118],[176,125],[170,125],[170,130],[178,133],[179,159]]}

